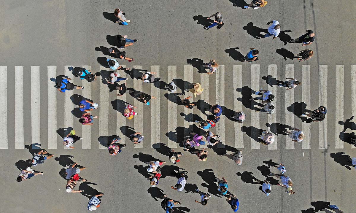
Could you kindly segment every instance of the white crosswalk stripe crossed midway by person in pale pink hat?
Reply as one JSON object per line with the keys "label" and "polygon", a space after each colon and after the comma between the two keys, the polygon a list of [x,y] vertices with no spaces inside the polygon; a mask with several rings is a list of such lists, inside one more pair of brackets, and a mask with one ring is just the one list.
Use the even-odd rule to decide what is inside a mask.
{"label": "white crosswalk stripe crossed midway by person in pale pink hat", "polygon": [[[241,93],[236,91],[236,88],[242,88],[242,66],[234,65],[233,66],[234,73],[234,111],[242,111],[242,102],[238,101],[237,98],[242,98]],[[235,148],[244,149],[244,133],[241,131],[241,127],[244,124],[237,123],[234,121],[234,129],[235,129]]]}

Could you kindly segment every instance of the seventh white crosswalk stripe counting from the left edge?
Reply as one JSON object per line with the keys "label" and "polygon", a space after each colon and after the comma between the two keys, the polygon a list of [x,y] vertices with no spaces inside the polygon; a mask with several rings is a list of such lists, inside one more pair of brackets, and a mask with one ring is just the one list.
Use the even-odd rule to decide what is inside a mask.
{"label": "seventh white crosswalk stripe counting from the left edge", "polygon": [[[106,71],[112,71],[110,68],[106,68],[103,66],[100,66],[100,71],[106,70]],[[107,84],[103,84],[102,82],[99,81],[99,94],[100,94],[100,99],[99,99],[99,118],[95,119],[94,122],[99,121],[99,136],[104,136],[106,139],[108,139],[109,136],[109,116],[108,116],[108,111],[109,111],[109,89]],[[96,116],[95,114],[92,114],[93,116]],[[87,127],[87,125],[85,125]],[[109,141],[104,141],[104,143],[109,144]],[[99,149],[107,149],[105,146],[101,145],[100,142],[98,141],[98,146]]]}

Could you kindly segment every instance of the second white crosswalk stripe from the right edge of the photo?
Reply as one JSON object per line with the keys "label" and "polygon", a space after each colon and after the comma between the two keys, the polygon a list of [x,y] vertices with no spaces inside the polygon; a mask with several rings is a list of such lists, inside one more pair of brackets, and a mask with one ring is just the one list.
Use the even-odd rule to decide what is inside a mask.
{"label": "second white crosswalk stripe from the right edge of the photo", "polygon": [[335,112],[335,149],[343,149],[344,138],[340,139],[340,133],[344,130],[344,126],[340,125],[339,121],[344,121],[344,65],[336,65],[335,71],[335,91],[337,91],[335,96],[335,109],[337,109]]}

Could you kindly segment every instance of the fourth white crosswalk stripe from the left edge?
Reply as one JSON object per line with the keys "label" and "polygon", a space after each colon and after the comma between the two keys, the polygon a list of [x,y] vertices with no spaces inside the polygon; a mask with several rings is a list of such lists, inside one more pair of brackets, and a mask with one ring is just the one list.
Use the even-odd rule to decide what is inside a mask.
{"label": "fourth white crosswalk stripe from the left edge", "polygon": [[57,149],[57,93],[56,82],[51,78],[57,77],[57,66],[47,66],[47,105],[48,105],[48,149]]}

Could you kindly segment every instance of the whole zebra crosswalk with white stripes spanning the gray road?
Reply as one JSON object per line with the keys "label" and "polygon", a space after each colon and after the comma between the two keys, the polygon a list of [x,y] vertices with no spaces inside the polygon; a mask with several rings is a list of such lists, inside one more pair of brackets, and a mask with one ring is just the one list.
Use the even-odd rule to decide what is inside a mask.
{"label": "whole zebra crosswalk with white stripes spanning the gray road", "polygon": [[[116,96],[119,92],[116,92],[115,90],[110,93],[108,85],[103,83],[104,81],[100,76],[98,76],[98,80],[93,82],[87,82],[86,80],[80,80],[79,78],[73,77],[71,67],[74,66],[31,66],[29,68],[25,67],[25,69],[24,66],[0,66],[0,89],[3,92],[0,96],[0,103],[2,104],[0,108],[0,129],[2,131],[0,149],[24,149],[25,145],[28,145],[31,142],[39,143],[41,144],[41,147],[46,149],[64,149],[61,136],[57,134],[57,130],[61,128],[74,128],[77,134],[83,137],[81,149],[106,149],[103,143],[107,144],[109,142],[109,136],[111,135],[120,136],[120,142],[122,144],[127,144],[129,143],[129,139],[126,131],[128,133],[131,129],[133,132],[141,132],[142,135],[145,136],[142,143],[133,145],[135,149],[146,147],[157,148],[159,147],[158,143],[160,142],[166,144],[169,148],[176,148],[181,142],[178,141],[178,136],[183,134],[184,136],[187,136],[189,131],[192,131],[191,125],[195,125],[193,123],[193,114],[197,114],[198,117],[203,119],[206,118],[203,110],[201,110],[204,102],[210,105],[219,104],[235,112],[244,111],[247,115],[245,123],[243,124],[230,120],[226,117],[226,115],[224,115],[224,113],[220,116],[220,120],[217,123],[216,128],[210,129],[210,131],[213,131],[213,133],[219,135],[220,140],[223,142],[222,144],[217,145],[219,148],[224,148],[225,145],[227,145],[236,147],[237,149],[277,150],[282,147],[282,149],[286,150],[304,150],[312,149],[312,143],[319,143],[319,149],[326,149],[329,146],[334,147],[335,149],[344,149],[345,147],[349,147],[349,144],[345,144],[344,141],[340,139],[340,132],[344,129],[344,126],[340,125],[339,121],[347,119],[344,118],[344,96],[346,95],[345,98],[351,97],[352,103],[356,100],[354,92],[352,94],[345,94],[344,91],[344,73],[349,72],[350,70],[348,69],[351,69],[352,91],[356,89],[355,65],[319,65],[319,67],[310,67],[310,65],[295,66],[294,64],[286,64],[285,67],[278,67],[276,64],[269,64],[267,69],[268,71],[265,71],[265,66],[260,64],[251,64],[248,66],[234,65],[232,67],[220,65],[215,74],[206,75],[203,73],[200,74],[199,79],[193,78],[193,72],[196,72],[197,69],[190,65],[182,67],[167,66],[167,68],[160,66],[133,66],[133,69],[136,71],[144,72],[147,70],[150,72],[156,72],[157,74],[155,74],[155,76],[157,78],[160,76],[166,77],[165,79],[155,82],[155,84],[143,83],[140,79],[130,78],[127,80],[127,88],[131,87],[136,91],[145,92],[157,98],[151,99],[150,106],[147,106],[133,98],[129,94],[129,91],[123,96]],[[110,71],[110,68],[103,66],[97,67],[97,70],[95,70],[95,67],[92,68],[91,66],[80,67],[84,67],[88,70],[90,69],[92,73],[108,73]],[[278,72],[279,69],[282,69],[284,72]],[[335,77],[328,75],[328,73],[334,71]],[[14,72],[16,79],[7,79],[7,73],[9,72]],[[31,80],[27,82],[31,85],[30,97],[24,96],[24,72],[30,72],[31,76]],[[167,72],[167,75],[163,75],[163,72]],[[313,78],[314,74],[312,72],[319,72],[319,79]],[[43,81],[44,78],[40,78],[41,74],[44,73],[47,73],[46,81]],[[120,74],[121,73],[123,72],[120,71]],[[233,73],[233,76],[228,76],[225,73]],[[282,74],[279,75],[279,73]],[[75,85],[83,85],[85,89],[66,91],[64,94],[59,93],[56,88],[54,88],[55,83],[53,81],[53,78],[56,78],[56,76],[59,75],[74,78],[71,81]],[[126,74],[123,73],[121,74],[121,77],[124,77],[125,75]],[[262,82],[261,80],[262,76],[267,75],[270,76],[267,79],[268,84],[266,84],[266,82]],[[183,79],[179,79],[179,76]],[[298,78],[300,78],[298,80],[302,81],[302,85],[295,89],[286,90],[285,87],[277,87],[276,85],[271,86],[273,84],[272,78],[282,80],[295,76],[298,76]],[[335,84],[328,85],[328,79],[330,77],[334,78]],[[233,81],[232,84],[225,83],[231,82],[231,79]],[[170,97],[173,96],[169,96],[169,92],[167,90],[159,89],[162,86],[160,85],[162,84],[162,81],[170,83],[172,80],[179,87],[181,86],[179,85],[178,80],[183,80],[183,82],[189,83],[199,82],[202,87],[204,87],[204,92],[200,96],[198,95],[197,98],[194,98],[194,101],[199,99],[204,100],[204,102],[200,102],[200,111],[198,111],[195,107],[194,112],[197,113],[193,113],[193,109],[188,109],[177,104],[183,98],[192,95],[192,93],[185,92],[184,95],[176,94],[174,96],[174,100],[172,100]],[[14,91],[9,91],[7,89],[10,82],[14,82]],[[211,82],[214,82],[216,85],[209,85]],[[318,83],[318,93],[320,94],[319,102],[313,102],[313,104],[315,104],[313,106],[311,106],[311,97],[316,93],[315,91],[311,91],[311,83]],[[245,108],[244,104],[239,100],[242,98],[242,92],[240,92],[237,88],[241,89],[246,85],[255,91],[260,88],[271,90],[276,96],[274,100],[274,105],[276,106],[275,113],[267,116],[265,113],[258,113],[255,112],[255,110],[252,110],[252,105],[252,109]],[[334,99],[330,99],[328,97],[328,88],[330,87],[333,88],[329,89],[329,91],[334,89],[337,91],[337,95],[334,97],[335,102]],[[43,89],[47,89],[46,93],[43,93]],[[180,89],[184,88],[178,88],[177,93],[180,93]],[[41,94],[46,94],[46,97],[42,98]],[[80,125],[78,123],[78,118],[74,115],[75,112],[73,110],[78,107],[73,100],[74,95],[79,95],[79,97],[81,95],[83,99],[91,99],[94,103],[99,103],[99,109],[91,111],[92,115],[99,116],[99,119],[94,119],[94,125]],[[96,99],[93,97],[96,97]],[[177,97],[179,97],[180,100]],[[255,97],[255,95],[252,94],[252,97]],[[119,101],[112,102],[115,99]],[[216,103],[213,103],[211,99],[214,101],[216,100]],[[307,105],[307,109],[313,110],[319,105],[323,105],[328,108],[329,103],[329,105],[335,104],[335,109],[337,109],[337,111],[333,112],[329,110],[323,122],[301,123],[298,116],[293,113],[294,111],[299,110],[293,108],[293,106],[295,106],[294,103],[296,102],[296,99],[302,100],[302,102]],[[11,102],[15,102],[14,114],[7,113],[8,105],[11,104],[10,100]],[[191,99],[191,101],[193,101],[193,99]],[[135,112],[138,113],[138,115],[135,116],[133,120],[128,120],[122,116],[121,111],[123,109],[121,108],[122,104],[125,104],[125,102],[130,102],[130,104],[137,107]],[[283,102],[285,107],[279,107]],[[114,104],[111,107],[111,103],[117,103],[116,107]],[[30,111],[25,110],[28,109],[26,106],[28,104],[31,104]],[[114,108],[116,110],[114,110]],[[46,110],[48,112],[47,117],[41,115],[42,111]],[[351,111],[352,115],[355,115],[356,106],[352,105]],[[143,119],[143,117],[148,117],[146,116],[147,114],[150,114],[151,121]],[[184,116],[182,116],[182,114],[184,114]],[[209,115],[210,113],[207,112],[207,114]],[[285,115],[285,117],[282,118],[281,115]],[[30,116],[30,124],[23,123],[24,116]],[[8,128],[7,124],[10,120],[14,120],[14,129]],[[329,124],[328,120],[330,121]],[[112,123],[114,123],[114,126],[112,126]],[[151,125],[146,125],[149,123]],[[162,126],[160,125],[161,123],[167,124],[167,126]],[[276,142],[269,145],[268,148],[264,148],[265,146],[261,146],[260,143],[256,142],[254,137],[250,137],[249,135],[253,135],[252,131],[255,131],[256,129],[267,130],[267,123],[286,124],[291,127],[302,129],[305,135],[305,138],[301,143],[302,145],[300,146],[297,143],[294,143],[287,135],[279,134]],[[299,126],[295,126],[298,124]],[[311,133],[313,125],[319,129],[316,134]],[[81,128],[79,128],[79,126],[81,126]],[[31,129],[30,137],[27,135],[29,127]],[[181,129],[184,129],[184,133],[177,132],[177,130],[180,129],[179,127],[183,127]],[[41,137],[43,135],[48,135],[48,137]],[[100,141],[99,137],[104,138],[104,141]],[[332,140],[330,140],[330,138]],[[14,141],[14,143],[10,142],[10,139],[11,141]],[[43,141],[43,139],[47,140]],[[207,144],[203,147],[207,147]],[[76,149],[80,149],[80,145],[77,145]]]}

